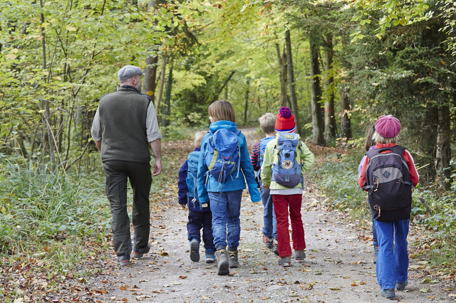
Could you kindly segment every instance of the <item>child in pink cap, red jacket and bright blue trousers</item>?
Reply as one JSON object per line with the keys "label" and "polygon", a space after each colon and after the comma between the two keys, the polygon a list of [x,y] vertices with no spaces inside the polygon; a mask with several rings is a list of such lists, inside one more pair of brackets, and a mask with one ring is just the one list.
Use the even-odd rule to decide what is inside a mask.
{"label": "child in pink cap, red jacket and bright blue trousers", "polygon": [[[402,159],[407,164],[406,167],[403,165],[402,170],[404,174],[406,174],[408,169],[409,174],[409,176],[404,176],[404,179],[410,181],[403,183],[405,183],[405,186],[412,185],[413,187],[418,184],[419,175],[413,162],[413,157],[406,149],[399,145],[396,145],[397,136],[399,135],[400,130],[400,121],[392,115],[380,116],[375,122],[375,133],[372,136],[372,139],[375,141],[375,147],[373,150],[366,153],[366,157],[362,164],[361,172],[358,178],[358,185],[361,188],[365,188],[366,190],[372,188],[372,186],[368,186],[368,183],[370,183],[369,180],[366,180],[366,171],[368,175],[367,178],[372,178],[371,173],[369,172],[371,168],[368,170],[369,155],[373,159],[374,157],[377,157],[376,155],[396,153],[397,151],[402,150]],[[374,161],[372,160],[371,162]],[[383,174],[383,177],[389,178],[390,175],[393,174],[390,174],[386,170]],[[377,189],[380,189],[378,188],[378,179],[382,178],[382,176],[373,177],[377,182],[377,188],[374,191],[377,191]],[[369,192],[369,195],[370,194],[371,192]],[[390,193],[388,195],[393,195],[393,193]],[[391,197],[391,199],[396,198]],[[408,199],[411,205],[411,194],[409,194]],[[380,208],[378,209],[381,210]],[[378,285],[382,289],[382,296],[386,298],[394,298],[396,297],[394,289],[405,289],[405,286],[408,283],[407,234],[408,224],[410,221],[410,208],[407,209],[407,213],[405,213],[405,215],[402,215],[402,217],[406,219],[394,221],[388,221],[388,218],[385,219],[385,215],[387,215],[389,210],[390,209],[388,208],[384,209],[383,213],[385,214],[383,215],[382,221],[378,221],[380,220],[380,213],[378,213],[377,218],[374,217],[374,219],[376,219],[374,223],[379,247],[378,258],[376,262],[376,274]]]}

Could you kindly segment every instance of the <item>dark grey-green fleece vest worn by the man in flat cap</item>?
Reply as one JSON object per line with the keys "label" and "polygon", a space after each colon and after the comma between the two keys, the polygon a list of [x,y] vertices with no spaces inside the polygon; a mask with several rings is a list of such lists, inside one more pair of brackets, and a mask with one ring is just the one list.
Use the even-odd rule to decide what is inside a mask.
{"label": "dark grey-green fleece vest worn by the man in flat cap", "polygon": [[101,161],[149,162],[146,135],[149,99],[132,86],[100,99]]}

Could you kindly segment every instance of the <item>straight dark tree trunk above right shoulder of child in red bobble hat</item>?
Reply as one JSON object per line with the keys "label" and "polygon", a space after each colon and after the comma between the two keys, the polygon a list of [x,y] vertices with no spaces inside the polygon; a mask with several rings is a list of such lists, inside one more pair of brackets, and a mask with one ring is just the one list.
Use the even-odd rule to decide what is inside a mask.
{"label": "straight dark tree trunk above right shoulder of child in red bobble hat", "polygon": [[311,32],[309,35],[310,61],[311,61],[311,104],[312,104],[312,142],[323,145],[323,121],[321,117],[321,88],[320,88],[320,67],[318,63],[318,46],[316,37]]}

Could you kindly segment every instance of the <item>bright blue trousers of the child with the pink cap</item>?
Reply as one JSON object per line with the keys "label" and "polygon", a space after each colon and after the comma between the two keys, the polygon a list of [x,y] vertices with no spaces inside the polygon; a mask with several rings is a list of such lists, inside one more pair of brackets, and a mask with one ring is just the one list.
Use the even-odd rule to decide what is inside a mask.
{"label": "bright blue trousers of the child with the pink cap", "polygon": [[[382,289],[395,288],[408,277],[407,235],[409,220],[375,221],[378,240],[377,281]],[[393,248],[394,244],[394,248]]]}

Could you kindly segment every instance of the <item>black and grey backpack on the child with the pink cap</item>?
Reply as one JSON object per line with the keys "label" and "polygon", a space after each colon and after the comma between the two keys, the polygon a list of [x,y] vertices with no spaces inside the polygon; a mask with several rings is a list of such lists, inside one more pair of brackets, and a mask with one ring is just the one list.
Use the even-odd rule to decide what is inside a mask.
{"label": "black and grey backpack on the child with the pink cap", "polygon": [[[381,153],[383,151],[391,153]],[[381,222],[410,219],[411,188],[410,173],[400,145],[371,149],[366,152],[369,163],[366,167],[366,183],[373,219]]]}

